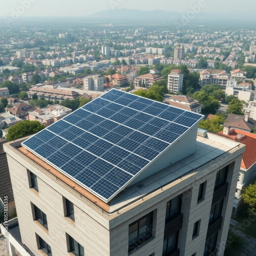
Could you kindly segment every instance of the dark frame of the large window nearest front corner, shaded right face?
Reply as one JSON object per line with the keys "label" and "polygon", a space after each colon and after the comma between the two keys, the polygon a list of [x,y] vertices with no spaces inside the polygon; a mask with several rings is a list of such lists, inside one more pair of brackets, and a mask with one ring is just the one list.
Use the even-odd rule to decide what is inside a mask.
{"label": "dark frame of the large window nearest front corner, shaded right face", "polygon": [[[150,212],[149,214],[141,217],[140,219],[138,219],[137,221],[131,223],[129,225],[129,247],[128,247],[128,252],[129,254],[137,249],[138,247],[140,248],[141,245],[143,245],[148,239],[151,239],[153,237],[153,216],[154,216],[154,211]],[[147,232],[148,234],[146,236],[141,237],[140,235],[140,222],[142,220],[145,220],[145,226],[147,228],[147,230],[145,232]],[[130,245],[130,236],[133,232],[131,232],[131,228],[132,226],[137,224],[137,228],[135,229],[135,231],[137,230],[137,241],[135,241],[133,244]]]}

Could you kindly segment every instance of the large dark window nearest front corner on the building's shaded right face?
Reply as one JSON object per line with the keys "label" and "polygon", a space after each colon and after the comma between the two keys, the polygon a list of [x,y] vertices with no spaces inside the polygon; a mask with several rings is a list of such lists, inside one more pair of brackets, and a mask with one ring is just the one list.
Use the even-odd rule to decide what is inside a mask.
{"label": "large dark window nearest front corner on the building's shaded right face", "polygon": [[129,225],[129,252],[152,237],[153,211]]}

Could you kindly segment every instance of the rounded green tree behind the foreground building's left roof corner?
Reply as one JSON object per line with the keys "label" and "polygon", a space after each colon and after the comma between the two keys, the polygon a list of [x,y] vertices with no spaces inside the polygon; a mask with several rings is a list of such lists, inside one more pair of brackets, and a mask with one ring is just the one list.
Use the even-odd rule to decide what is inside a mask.
{"label": "rounded green tree behind the foreground building's left roof corner", "polygon": [[9,141],[22,138],[24,136],[37,133],[45,129],[45,125],[38,121],[25,120],[11,126],[6,135],[6,139]]}

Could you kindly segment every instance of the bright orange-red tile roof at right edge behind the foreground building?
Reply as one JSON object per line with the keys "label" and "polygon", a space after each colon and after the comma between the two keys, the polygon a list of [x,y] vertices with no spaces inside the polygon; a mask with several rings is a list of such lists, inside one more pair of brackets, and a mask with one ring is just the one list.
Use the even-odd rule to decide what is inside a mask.
{"label": "bright orange-red tile roof at right edge behind the foreground building", "polygon": [[246,149],[241,162],[241,168],[249,169],[256,162],[256,134],[240,131],[237,129],[231,130],[229,135],[224,135],[223,131],[220,132],[220,134],[246,145]]}

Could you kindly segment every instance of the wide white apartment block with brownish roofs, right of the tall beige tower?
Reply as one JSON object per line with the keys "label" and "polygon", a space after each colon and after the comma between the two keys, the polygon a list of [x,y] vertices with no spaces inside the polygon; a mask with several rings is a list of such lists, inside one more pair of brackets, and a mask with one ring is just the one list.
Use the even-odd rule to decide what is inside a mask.
{"label": "wide white apartment block with brownish roofs, right of the tall beige tower", "polygon": [[222,70],[207,69],[200,72],[200,86],[205,84],[219,84],[222,88],[226,88],[229,76]]}

